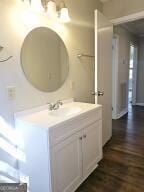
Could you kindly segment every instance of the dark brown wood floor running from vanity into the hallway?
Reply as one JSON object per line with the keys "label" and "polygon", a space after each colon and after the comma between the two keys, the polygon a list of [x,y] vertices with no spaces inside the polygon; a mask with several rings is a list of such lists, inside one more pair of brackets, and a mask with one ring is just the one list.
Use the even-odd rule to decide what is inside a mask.
{"label": "dark brown wood floor running from vanity into the hallway", "polygon": [[144,107],[113,121],[103,160],[76,192],[144,192]]}

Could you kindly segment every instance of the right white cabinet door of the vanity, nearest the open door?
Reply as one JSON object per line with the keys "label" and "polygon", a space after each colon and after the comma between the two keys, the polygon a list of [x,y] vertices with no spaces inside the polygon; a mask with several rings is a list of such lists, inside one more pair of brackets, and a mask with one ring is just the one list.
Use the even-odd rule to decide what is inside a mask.
{"label": "right white cabinet door of the vanity, nearest the open door", "polygon": [[102,158],[102,121],[84,129],[82,150],[83,176],[86,178]]}

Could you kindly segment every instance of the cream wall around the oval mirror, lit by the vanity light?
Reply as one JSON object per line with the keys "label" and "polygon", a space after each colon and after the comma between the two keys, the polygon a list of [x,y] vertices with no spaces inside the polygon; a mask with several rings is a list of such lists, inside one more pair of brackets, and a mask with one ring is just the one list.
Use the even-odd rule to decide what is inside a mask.
{"label": "cream wall around the oval mirror, lit by the vanity light", "polygon": [[[57,1],[59,2],[59,1]],[[72,21],[60,24],[47,16],[29,11],[20,0],[0,2],[0,45],[13,55],[0,63],[0,115],[13,122],[13,113],[58,99],[74,97],[77,101],[94,102],[90,92],[94,88],[93,64],[91,59],[77,59],[80,52],[94,54],[94,10],[102,10],[99,0],[83,2],[68,0]],[[24,38],[35,27],[47,26],[55,30],[64,40],[69,53],[70,72],[65,84],[56,92],[44,93],[36,90],[26,80],[20,65],[20,50]],[[75,89],[70,81],[75,81]],[[16,100],[8,101],[7,86],[16,86]]]}

